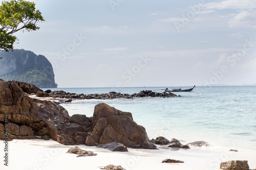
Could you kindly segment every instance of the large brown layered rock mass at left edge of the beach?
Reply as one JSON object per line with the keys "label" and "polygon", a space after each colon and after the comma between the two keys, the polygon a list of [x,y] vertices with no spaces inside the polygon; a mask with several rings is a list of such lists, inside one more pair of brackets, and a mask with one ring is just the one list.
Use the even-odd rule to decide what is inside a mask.
{"label": "large brown layered rock mass at left edge of the beach", "polygon": [[[91,122],[70,122],[68,111],[51,101],[33,100],[15,81],[0,79],[0,139],[5,139],[8,115],[8,140],[53,139],[62,144],[84,144]],[[28,91],[27,91],[28,92]]]}

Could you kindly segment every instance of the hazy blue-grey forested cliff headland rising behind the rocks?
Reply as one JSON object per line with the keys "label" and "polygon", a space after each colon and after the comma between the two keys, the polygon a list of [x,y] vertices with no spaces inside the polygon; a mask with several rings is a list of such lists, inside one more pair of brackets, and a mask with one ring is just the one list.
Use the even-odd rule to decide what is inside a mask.
{"label": "hazy blue-grey forested cliff headland rising behind the rocks", "polygon": [[39,88],[55,88],[52,64],[31,51],[0,52],[0,78],[33,83]]}

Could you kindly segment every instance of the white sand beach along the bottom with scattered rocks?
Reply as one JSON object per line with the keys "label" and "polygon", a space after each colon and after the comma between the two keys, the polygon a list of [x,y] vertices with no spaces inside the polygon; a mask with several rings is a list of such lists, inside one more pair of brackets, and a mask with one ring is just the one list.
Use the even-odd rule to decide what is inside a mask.
{"label": "white sand beach along the bottom with scattered rocks", "polygon": [[[0,140],[0,148],[4,141]],[[82,150],[93,151],[97,156],[76,157],[66,152],[74,146],[62,145],[52,139],[17,140],[9,142],[8,167],[1,161],[0,169],[100,169],[109,164],[129,169],[219,169],[220,162],[248,160],[250,168],[256,168],[256,153],[230,152],[223,148],[168,149],[157,145],[159,150],[131,149],[129,152],[111,152],[106,149],[78,145]],[[4,151],[1,149],[1,155]],[[182,160],[184,163],[161,163],[164,159]],[[3,157],[2,157],[3,159]]]}

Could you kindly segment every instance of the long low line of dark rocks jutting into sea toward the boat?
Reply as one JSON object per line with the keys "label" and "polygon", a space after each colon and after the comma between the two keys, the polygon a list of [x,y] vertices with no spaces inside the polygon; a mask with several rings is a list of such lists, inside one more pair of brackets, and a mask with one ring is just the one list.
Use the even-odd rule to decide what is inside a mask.
{"label": "long low line of dark rocks jutting into sea toward the boat", "polygon": [[52,98],[61,98],[61,99],[100,99],[100,100],[110,100],[110,99],[134,99],[134,98],[174,98],[177,97],[176,94],[171,92],[154,92],[151,90],[142,90],[139,93],[133,94],[121,94],[119,92],[111,91],[109,93],[102,93],[102,94],[76,94],[65,92],[62,90],[59,91],[52,91],[48,93]]}

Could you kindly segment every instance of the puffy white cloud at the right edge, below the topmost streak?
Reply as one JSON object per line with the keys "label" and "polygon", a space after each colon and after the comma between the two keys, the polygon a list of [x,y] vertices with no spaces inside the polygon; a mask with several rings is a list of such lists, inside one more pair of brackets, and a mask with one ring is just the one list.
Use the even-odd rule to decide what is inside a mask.
{"label": "puffy white cloud at the right edge, below the topmost streak", "polygon": [[256,29],[256,10],[241,11],[228,21],[229,28]]}

